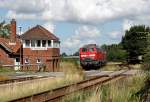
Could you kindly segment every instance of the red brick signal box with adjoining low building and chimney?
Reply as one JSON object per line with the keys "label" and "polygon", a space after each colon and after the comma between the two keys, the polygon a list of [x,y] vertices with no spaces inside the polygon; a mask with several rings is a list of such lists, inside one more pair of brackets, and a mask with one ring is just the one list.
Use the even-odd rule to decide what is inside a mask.
{"label": "red brick signal box with adjoining low building and chimney", "polygon": [[54,34],[37,25],[17,38],[16,21],[11,21],[10,38],[0,38],[0,64],[21,65],[21,70],[58,71],[60,41]]}

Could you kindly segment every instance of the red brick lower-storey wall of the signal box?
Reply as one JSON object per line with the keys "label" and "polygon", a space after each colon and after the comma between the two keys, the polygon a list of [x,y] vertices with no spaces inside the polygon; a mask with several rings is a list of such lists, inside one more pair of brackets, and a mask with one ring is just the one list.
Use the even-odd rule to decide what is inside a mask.
{"label": "red brick lower-storey wall of the signal box", "polygon": [[[45,65],[42,67],[44,71],[58,71],[60,62],[60,49],[48,48],[47,50],[31,50],[30,48],[23,48],[23,64],[25,59],[29,60],[29,64],[37,64],[37,59],[41,60],[41,63]],[[32,70],[38,71],[39,67],[36,65],[30,67],[23,67],[24,71]]]}

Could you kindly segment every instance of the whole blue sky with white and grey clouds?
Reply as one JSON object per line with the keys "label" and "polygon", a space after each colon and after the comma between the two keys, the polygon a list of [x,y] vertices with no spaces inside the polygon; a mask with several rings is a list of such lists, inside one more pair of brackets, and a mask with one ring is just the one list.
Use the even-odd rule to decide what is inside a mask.
{"label": "whole blue sky with white and grey clouds", "polygon": [[22,33],[41,25],[61,41],[61,53],[84,44],[115,44],[134,25],[150,25],[150,0],[0,0],[0,22],[16,19]]}

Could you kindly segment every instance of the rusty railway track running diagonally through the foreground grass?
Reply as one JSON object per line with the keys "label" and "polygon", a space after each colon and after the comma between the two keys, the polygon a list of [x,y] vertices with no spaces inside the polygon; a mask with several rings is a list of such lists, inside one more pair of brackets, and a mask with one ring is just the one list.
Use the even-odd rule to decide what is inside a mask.
{"label": "rusty railway track running diagonally through the foreground grass", "polygon": [[32,96],[26,96],[19,99],[11,100],[11,102],[58,102],[63,96],[73,93],[75,91],[95,87],[97,85],[106,84],[112,80],[118,80],[124,78],[127,71],[117,71],[110,75],[97,76],[84,81],[66,85],[57,89],[45,91],[42,93],[34,94]]}

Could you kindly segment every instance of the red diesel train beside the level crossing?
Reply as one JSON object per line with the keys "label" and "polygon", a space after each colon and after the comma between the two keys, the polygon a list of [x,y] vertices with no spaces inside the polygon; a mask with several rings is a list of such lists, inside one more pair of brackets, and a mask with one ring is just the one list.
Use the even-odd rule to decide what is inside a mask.
{"label": "red diesel train beside the level crossing", "polygon": [[106,51],[96,44],[87,44],[81,47],[79,57],[83,69],[99,68],[106,64]]}

